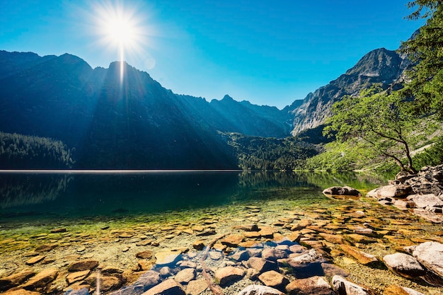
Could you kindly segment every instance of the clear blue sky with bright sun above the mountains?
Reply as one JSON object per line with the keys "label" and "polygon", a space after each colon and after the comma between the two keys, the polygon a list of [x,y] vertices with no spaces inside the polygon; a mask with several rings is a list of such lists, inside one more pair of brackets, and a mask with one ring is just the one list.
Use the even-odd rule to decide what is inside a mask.
{"label": "clear blue sky with bright sun above the mountains", "polygon": [[[408,0],[0,0],[0,50],[124,59],[174,93],[283,108],[423,24]],[[124,21],[113,25],[115,18]],[[124,28],[122,28],[124,27]],[[121,30],[112,39],[110,30]]]}

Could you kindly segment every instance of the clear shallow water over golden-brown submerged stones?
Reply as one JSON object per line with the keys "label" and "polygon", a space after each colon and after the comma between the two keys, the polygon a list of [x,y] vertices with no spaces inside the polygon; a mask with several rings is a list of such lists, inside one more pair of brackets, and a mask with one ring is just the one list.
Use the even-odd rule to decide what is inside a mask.
{"label": "clear shallow water over golden-brown submerged stones", "polygon": [[[245,235],[238,226],[255,224],[272,229],[265,236]],[[374,229],[369,236],[355,233],[358,228]],[[322,233],[342,238],[340,243],[328,241]],[[76,224],[61,221],[40,226],[23,225],[18,229],[0,231],[0,277],[24,271],[35,273],[47,269],[57,270],[47,285],[38,288],[52,294],[63,294],[69,289],[88,285],[91,294],[95,287],[86,277],[69,284],[69,265],[76,261],[96,260],[98,268],[121,270],[118,289],[130,286],[146,270],[155,267],[156,253],[166,250],[180,253],[201,253],[220,235],[242,236],[237,244],[216,243],[214,249],[222,256],[212,267],[222,265],[235,249],[257,243],[275,243],[284,238],[293,239],[306,248],[324,251],[331,262],[342,267],[347,279],[374,289],[382,294],[392,284],[410,287],[424,294],[440,294],[440,289],[425,282],[405,279],[386,267],[362,265],[340,248],[341,243],[374,255],[380,262],[384,255],[396,253],[403,246],[418,245],[425,241],[443,243],[441,225],[432,224],[413,216],[410,212],[384,207],[373,199],[324,199],[321,203],[300,206],[287,200],[267,200],[238,204],[238,206],[213,207],[192,212],[169,212],[151,216],[118,219],[79,220]],[[40,250],[39,250],[40,248]],[[140,258],[139,253],[151,255]],[[139,257],[137,257],[139,256]],[[89,273],[91,277],[93,272]],[[201,274],[200,274],[201,276]],[[244,279],[226,287],[224,294],[234,294]],[[257,284],[257,282],[255,282]],[[245,286],[246,287],[246,286]],[[20,284],[18,287],[20,289]],[[110,294],[115,289],[103,291]],[[209,289],[201,294],[211,294]]]}

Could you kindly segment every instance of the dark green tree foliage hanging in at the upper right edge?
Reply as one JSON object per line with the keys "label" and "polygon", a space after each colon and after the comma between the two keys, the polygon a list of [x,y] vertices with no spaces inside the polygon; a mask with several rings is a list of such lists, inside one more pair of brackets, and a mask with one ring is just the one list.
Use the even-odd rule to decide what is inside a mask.
{"label": "dark green tree foliage hanging in at the upper right edge", "polygon": [[402,93],[415,98],[415,110],[422,114],[437,113],[443,119],[443,1],[417,0],[408,3],[415,9],[410,20],[426,23],[410,40],[403,42],[401,52],[408,54],[414,66],[408,71],[410,81]]}

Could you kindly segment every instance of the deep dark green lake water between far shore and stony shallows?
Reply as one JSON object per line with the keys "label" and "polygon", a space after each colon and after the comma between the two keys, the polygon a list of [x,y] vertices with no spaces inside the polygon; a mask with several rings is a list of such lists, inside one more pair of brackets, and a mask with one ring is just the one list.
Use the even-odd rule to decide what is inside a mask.
{"label": "deep dark green lake water between far shore and stony shallows", "polygon": [[269,199],[319,202],[333,185],[369,190],[383,180],[358,173],[96,171],[0,173],[0,225],[94,216],[137,216]]}

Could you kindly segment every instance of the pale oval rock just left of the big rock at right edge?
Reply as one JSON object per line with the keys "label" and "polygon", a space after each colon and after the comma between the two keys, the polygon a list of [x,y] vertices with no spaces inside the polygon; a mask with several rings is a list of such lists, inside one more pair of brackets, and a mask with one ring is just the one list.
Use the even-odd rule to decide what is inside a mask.
{"label": "pale oval rock just left of the big rock at right edge", "polygon": [[402,277],[413,279],[421,277],[426,272],[413,256],[405,253],[386,255],[384,256],[383,261],[389,270]]}

